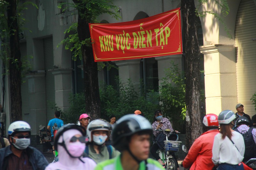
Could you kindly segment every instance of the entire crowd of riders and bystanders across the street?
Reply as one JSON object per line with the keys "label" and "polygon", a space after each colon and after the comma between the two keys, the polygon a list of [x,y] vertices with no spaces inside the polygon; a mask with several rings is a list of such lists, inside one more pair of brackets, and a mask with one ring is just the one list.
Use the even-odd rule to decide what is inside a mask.
{"label": "entire crowd of riders and bystanders across the street", "polygon": [[[256,129],[253,128],[250,116],[244,113],[243,107],[242,104],[237,104],[236,114],[231,110],[224,110],[219,116],[205,115],[202,123],[204,133],[194,141],[182,166],[190,169],[250,169],[244,162],[256,156]],[[173,131],[173,128],[170,120],[163,117],[161,110],[154,112],[152,124],[140,110],[124,115],[119,120],[111,115],[109,121],[91,120],[88,114],[83,113],[78,122],[64,125],[60,112],[56,111],[54,119],[48,123],[48,131],[45,126],[39,126],[40,143],[48,142],[58,152],[58,161],[51,164],[48,164],[41,152],[29,146],[30,125],[24,121],[11,123],[8,127],[8,139],[0,138],[0,169],[166,168],[165,162],[157,153],[160,149],[157,140],[165,129]],[[52,128],[56,124],[59,128],[57,133]],[[173,140],[170,137],[168,140]],[[250,138],[245,141],[245,137]],[[155,160],[149,158],[149,153]],[[177,162],[174,152],[172,156]],[[179,170],[179,166],[177,169]]]}

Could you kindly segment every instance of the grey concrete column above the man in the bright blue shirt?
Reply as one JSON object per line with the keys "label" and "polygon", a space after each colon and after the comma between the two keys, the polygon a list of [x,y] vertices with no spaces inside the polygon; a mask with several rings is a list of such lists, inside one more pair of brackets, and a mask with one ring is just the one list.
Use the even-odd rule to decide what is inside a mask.
{"label": "grey concrete column above the man in the bright blue shirt", "polygon": [[72,94],[72,68],[53,69],[55,83],[55,102],[62,111],[69,107],[68,98]]}

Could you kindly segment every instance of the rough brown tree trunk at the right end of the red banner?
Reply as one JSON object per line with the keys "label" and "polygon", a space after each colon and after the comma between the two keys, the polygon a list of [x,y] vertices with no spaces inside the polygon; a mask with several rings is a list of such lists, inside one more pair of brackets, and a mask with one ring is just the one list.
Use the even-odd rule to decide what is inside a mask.
{"label": "rough brown tree trunk at the right end of the red banner", "polygon": [[200,49],[198,44],[198,23],[193,0],[181,0],[183,21],[183,52],[186,77],[186,141],[188,149],[202,133],[200,119]]}

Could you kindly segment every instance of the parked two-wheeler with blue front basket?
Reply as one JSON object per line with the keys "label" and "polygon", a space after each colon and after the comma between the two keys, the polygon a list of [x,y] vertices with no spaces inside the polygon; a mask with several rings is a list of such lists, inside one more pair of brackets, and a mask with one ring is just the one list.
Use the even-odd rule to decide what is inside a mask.
{"label": "parked two-wheeler with blue front basket", "polygon": [[179,132],[171,131],[170,129],[158,129],[157,131],[164,132],[166,140],[164,141],[164,150],[158,149],[156,152],[164,162],[166,170],[177,170],[178,162],[172,155],[180,149],[181,141],[178,141],[179,137],[177,135]]}

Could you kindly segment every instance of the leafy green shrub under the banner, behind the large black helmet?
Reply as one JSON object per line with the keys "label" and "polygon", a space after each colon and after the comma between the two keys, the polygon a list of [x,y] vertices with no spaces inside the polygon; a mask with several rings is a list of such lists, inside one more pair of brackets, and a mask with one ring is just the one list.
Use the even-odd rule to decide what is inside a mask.
{"label": "leafy green shrub under the banner, behind the large black helmet", "polygon": [[159,108],[158,95],[152,93],[147,100],[136,92],[134,83],[130,79],[125,83],[120,80],[118,82],[117,90],[111,85],[100,89],[101,117],[109,120],[110,115],[116,115],[118,119],[123,115],[133,114],[135,110],[140,110],[146,118],[152,121],[152,113]]}

